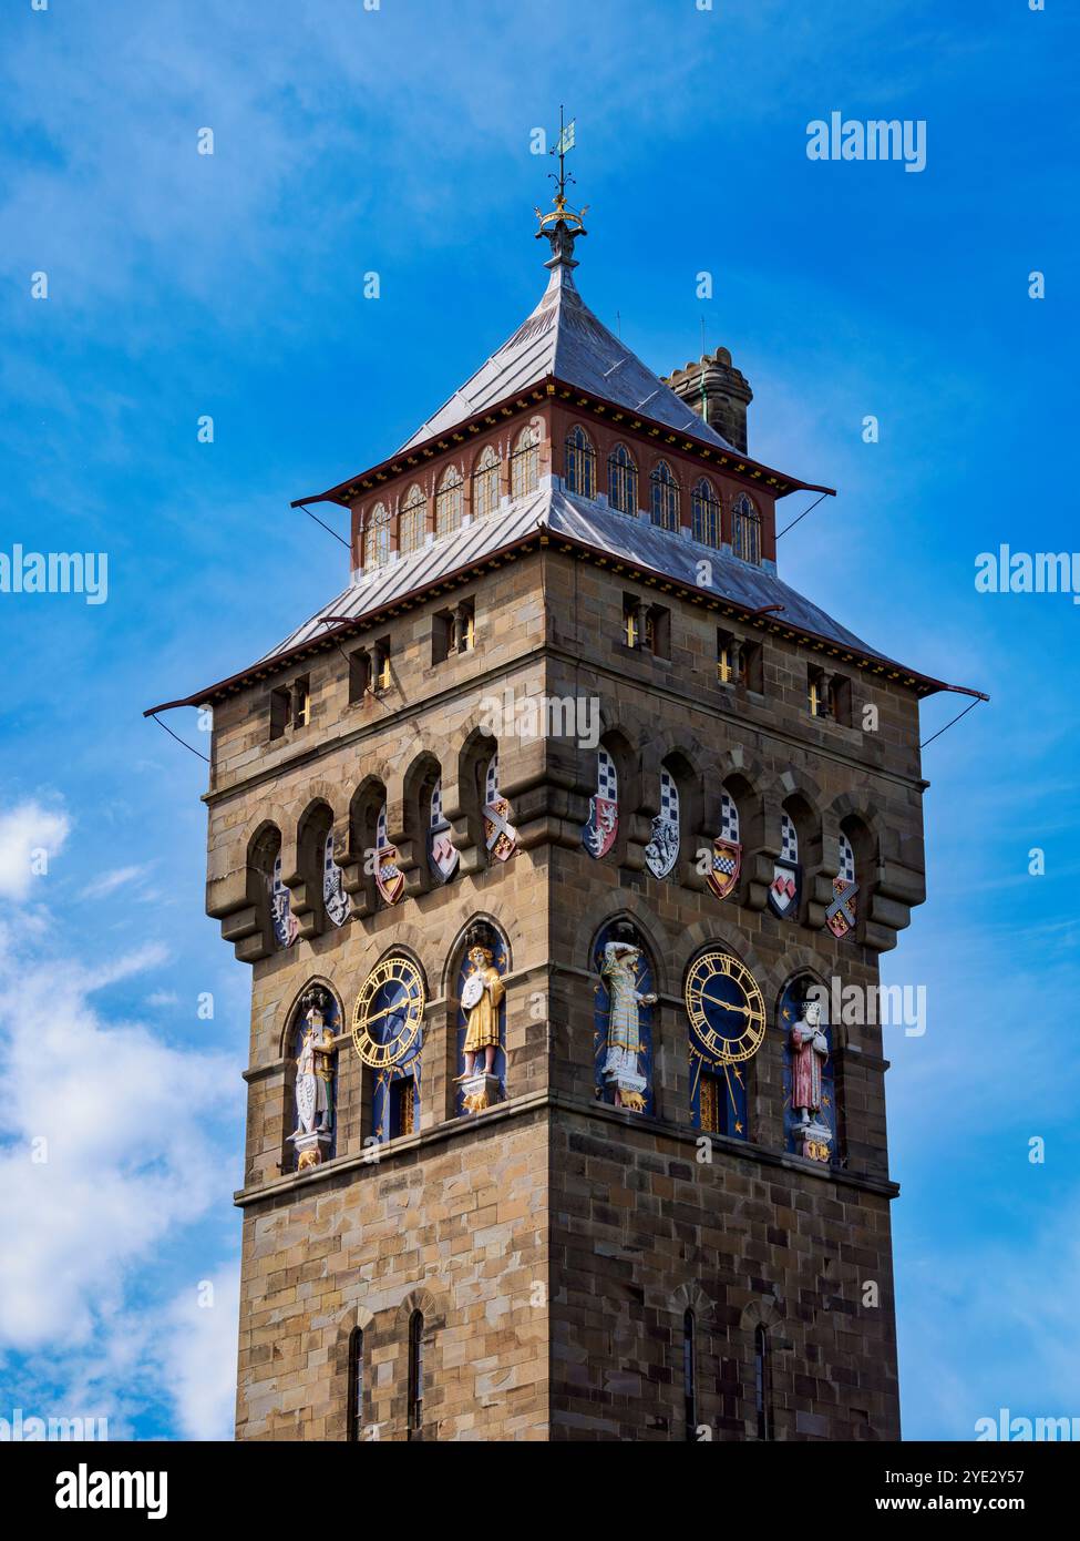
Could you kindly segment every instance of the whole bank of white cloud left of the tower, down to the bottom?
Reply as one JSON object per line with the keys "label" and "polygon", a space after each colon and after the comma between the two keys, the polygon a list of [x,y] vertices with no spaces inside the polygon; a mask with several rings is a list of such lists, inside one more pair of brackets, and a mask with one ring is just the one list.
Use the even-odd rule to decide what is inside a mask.
{"label": "whole bank of white cloud left of the tower, down to the bottom", "polygon": [[[0,815],[0,831],[8,892],[23,892],[18,852],[46,838],[59,849],[68,818],[28,803]],[[200,1270],[194,1228],[228,1204],[234,1130],[222,1120],[236,1120],[240,1066],[94,1002],[159,968],[165,946],[88,966],[59,954],[39,920],[37,908],[11,908],[0,935],[5,1382],[34,1412],[106,1416],[112,1438],[140,1415],[228,1438],[239,1285],[217,1241]],[[176,1296],[165,1259],[180,1237],[194,1277]],[[200,1281],[214,1285],[213,1307],[197,1304]]]}

